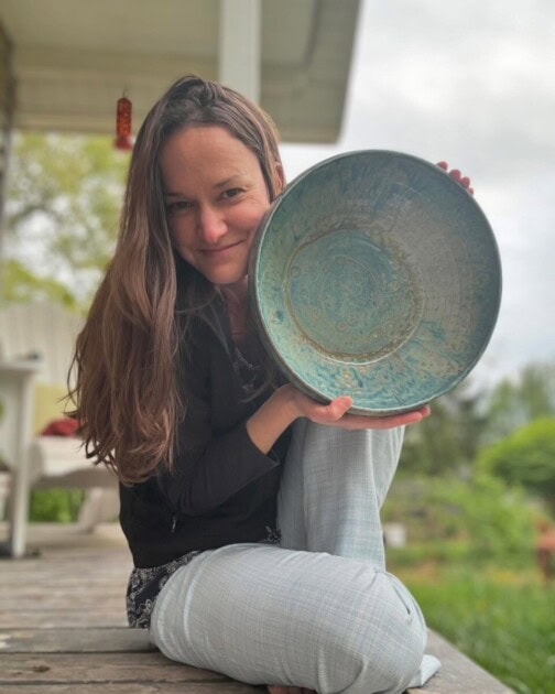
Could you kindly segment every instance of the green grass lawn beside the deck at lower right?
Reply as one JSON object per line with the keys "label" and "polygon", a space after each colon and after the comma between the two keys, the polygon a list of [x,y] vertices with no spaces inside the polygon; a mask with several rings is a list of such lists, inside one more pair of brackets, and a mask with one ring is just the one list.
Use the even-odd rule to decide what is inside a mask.
{"label": "green grass lawn beside the deck at lower right", "polygon": [[407,561],[388,568],[411,589],[428,626],[519,693],[555,694],[555,582],[533,565]]}

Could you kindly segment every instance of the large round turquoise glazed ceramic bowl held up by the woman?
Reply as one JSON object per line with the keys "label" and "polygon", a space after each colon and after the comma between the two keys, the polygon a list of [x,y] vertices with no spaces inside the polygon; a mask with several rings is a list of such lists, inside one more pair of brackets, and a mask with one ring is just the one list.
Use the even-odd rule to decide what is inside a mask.
{"label": "large round turquoise glazed ceramic bowl held up by the woman", "polygon": [[250,258],[262,340],[297,388],[406,412],[459,383],[493,330],[501,264],[474,197],[399,152],[341,154],[291,183]]}

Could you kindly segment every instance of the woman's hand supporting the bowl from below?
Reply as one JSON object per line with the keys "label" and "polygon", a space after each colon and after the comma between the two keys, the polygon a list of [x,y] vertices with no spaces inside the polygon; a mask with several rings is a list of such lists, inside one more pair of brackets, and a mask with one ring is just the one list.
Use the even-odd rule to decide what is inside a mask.
{"label": "woman's hand supporting the bowl from below", "polygon": [[404,412],[403,414],[363,416],[361,414],[349,414],[348,411],[352,405],[352,398],[348,395],[335,398],[329,404],[320,404],[301,391],[295,390],[294,399],[300,416],[304,416],[316,424],[326,424],[347,430],[393,429],[395,426],[415,424],[431,412],[428,405],[423,405],[417,410]]}

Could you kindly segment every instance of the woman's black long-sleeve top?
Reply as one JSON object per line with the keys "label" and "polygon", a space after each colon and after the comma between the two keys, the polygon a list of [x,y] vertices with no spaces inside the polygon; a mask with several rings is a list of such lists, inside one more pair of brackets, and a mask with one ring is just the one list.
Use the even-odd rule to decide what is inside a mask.
{"label": "woman's black long-sleeve top", "polygon": [[[253,347],[261,349],[254,341],[249,353]],[[258,542],[275,528],[289,432],[268,455],[247,433],[248,418],[270,394],[266,390],[247,399],[257,384],[257,361],[246,359],[232,343],[222,303],[213,303],[203,318],[194,319],[178,369],[186,411],[177,425],[173,470],[120,486],[120,522],[135,567]]]}

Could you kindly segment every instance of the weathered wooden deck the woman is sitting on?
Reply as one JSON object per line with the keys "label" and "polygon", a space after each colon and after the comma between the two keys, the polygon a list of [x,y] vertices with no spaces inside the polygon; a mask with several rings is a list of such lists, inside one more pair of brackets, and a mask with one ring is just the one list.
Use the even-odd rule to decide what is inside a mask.
{"label": "weathered wooden deck the woman is sitting on", "polygon": [[[1,532],[0,532],[1,538]],[[0,693],[252,694],[264,692],[166,660],[128,629],[131,559],[119,528],[94,534],[32,525],[40,555],[0,561]],[[442,670],[414,694],[497,694],[505,686],[432,633]]]}

